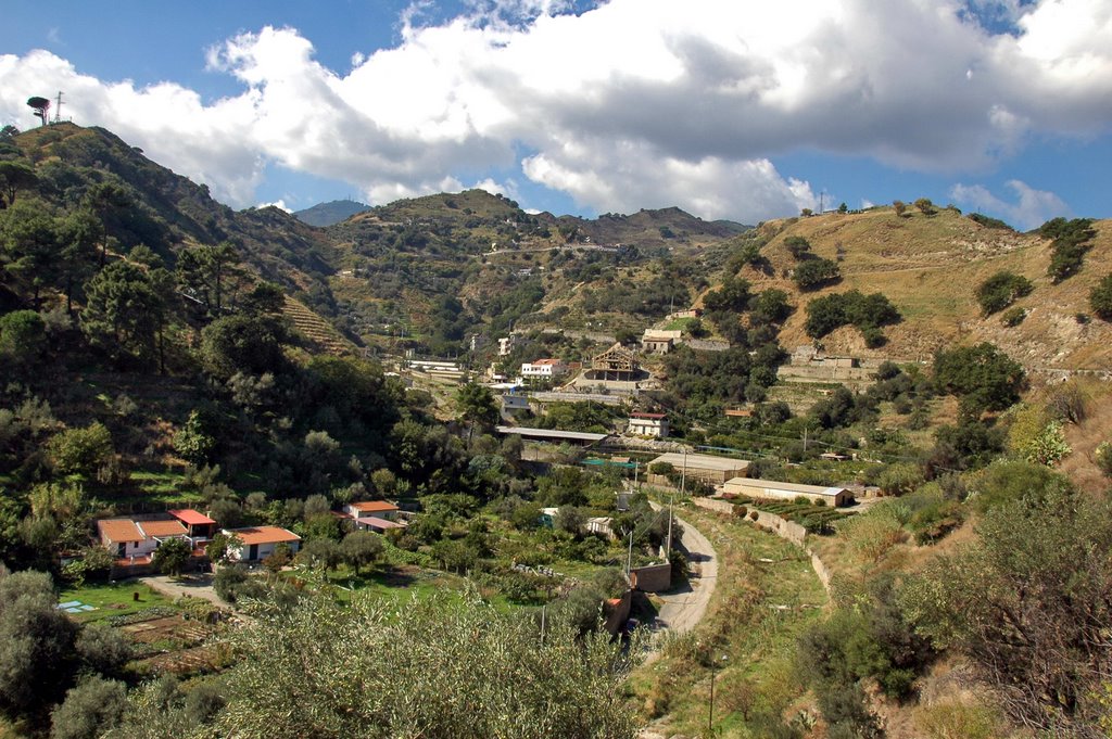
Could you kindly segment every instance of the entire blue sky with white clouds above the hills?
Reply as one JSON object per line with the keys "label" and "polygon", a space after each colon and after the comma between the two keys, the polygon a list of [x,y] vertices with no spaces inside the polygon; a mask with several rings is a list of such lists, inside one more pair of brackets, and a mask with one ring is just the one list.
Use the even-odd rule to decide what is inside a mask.
{"label": "entire blue sky with white clouds above the hills", "polygon": [[4,0],[31,96],[234,208],[1112,216],[1112,0]]}

